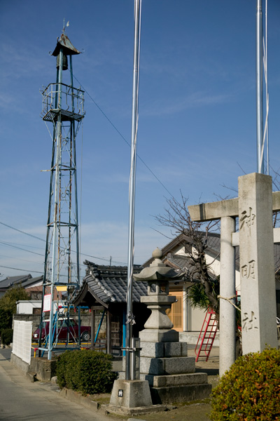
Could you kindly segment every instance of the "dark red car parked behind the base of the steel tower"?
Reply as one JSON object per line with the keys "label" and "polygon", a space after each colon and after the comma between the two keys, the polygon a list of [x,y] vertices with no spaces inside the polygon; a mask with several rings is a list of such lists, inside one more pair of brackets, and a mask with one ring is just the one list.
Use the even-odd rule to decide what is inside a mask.
{"label": "dark red car parked behind the base of the steel tower", "polygon": [[[69,323],[69,328],[68,328]],[[54,321],[55,326],[55,335],[54,340],[62,342],[67,340],[67,334],[69,333],[69,342],[78,341],[78,323],[74,319],[58,319],[58,321]],[[42,329],[42,341],[45,341],[45,338],[48,336],[50,321],[45,320],[43,322],[43,329]],[[32,339],[34,342],[38,342],[40,336],[40,326],[35,330],[32,335]],[[80,340],[84,342],[90,341],[90,326],[80,326]]]}

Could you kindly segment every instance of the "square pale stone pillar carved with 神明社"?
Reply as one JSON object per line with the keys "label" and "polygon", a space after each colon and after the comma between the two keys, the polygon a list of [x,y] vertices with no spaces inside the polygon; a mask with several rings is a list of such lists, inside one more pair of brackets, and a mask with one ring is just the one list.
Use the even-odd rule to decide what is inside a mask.
{"label": "square pale stone pillar carved with \u795e\u660e\u793e", "polygon": [[242,351],[277,347],[272,178],[238,179]]}

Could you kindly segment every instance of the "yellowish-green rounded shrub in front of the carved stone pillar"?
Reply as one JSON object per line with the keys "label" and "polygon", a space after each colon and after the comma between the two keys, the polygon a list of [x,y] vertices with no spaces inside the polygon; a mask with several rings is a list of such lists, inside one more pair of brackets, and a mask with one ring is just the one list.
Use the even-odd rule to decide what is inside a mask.
{"label": "yellowish-green rounded shrub in front of the carved stone pillar", "polygon": [[280,420],[280,351],[239,357],[212,396],[213,421]]}

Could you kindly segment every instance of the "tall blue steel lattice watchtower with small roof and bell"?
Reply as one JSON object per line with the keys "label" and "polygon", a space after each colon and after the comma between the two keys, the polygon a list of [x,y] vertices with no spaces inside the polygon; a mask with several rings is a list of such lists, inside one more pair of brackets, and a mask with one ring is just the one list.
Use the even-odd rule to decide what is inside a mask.
{"label": "tall blue steel lattice watchtower with small roof and bell", "polygon": [[[78,200],[76,178],[76,135],[85,114],[84,91],[73,87],[72,55],[78,51],[66,36],[64,29],[57,39],[52,55],[57,58],[57,79],[41,93],[43,95],[43,121],[52,123],[52,160],[50,166],[50,194],[48,225],[43,276],[41,334],[46,309],[50,310],[48,359],[55,347],[52,333],[55,326],[55,290],[66,290],[66,314],[69,302],[79,286]],[[62,83],[62,72],[70,62],[70,82]],[[63,288],[64,286],[64,288]],[[49,294],[47,294],[49,292]],[[58,295],[57,295],[58,296]],[[46,302],[49,305],[46,305]],[[45,308],[43,308],[45,307]],[[48,308],[46,308],[48,307]],[[67,308],[68,307],[68,308]],[[41,348],[42,350],[43,348]]]}

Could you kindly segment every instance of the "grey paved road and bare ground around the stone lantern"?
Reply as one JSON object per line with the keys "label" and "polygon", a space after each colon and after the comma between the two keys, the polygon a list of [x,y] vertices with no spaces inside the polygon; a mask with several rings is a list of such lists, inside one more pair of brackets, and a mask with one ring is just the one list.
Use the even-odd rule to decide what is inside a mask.
{"label": "grey paved road and bare ground around the stone lantern", "polygon": [[[195,347],[190,345],[189,356],[195,356]],[[198,372],[209,375],[209,382],[216,385],[218,380],[218,347],[211,351],[209,361],[205,357],[196,363]],[[120,369],[120,361],[114,369]],[[59,396],[57,387],[50,383],[31,383],[25,375],[10,364],[10,349],[0,349],[0,420],[1,421],[113,421],[115,417],[106,417],[101,413],[93,413],[78,403],[73,403]],[[109,398],[108,398],[109,400]],[[141,415],[139,417],[117,417],[118,420],[146,421],[209,421],[211,405],[208,400],[195,403],[177,404],[177,408],[165,413]]]}

